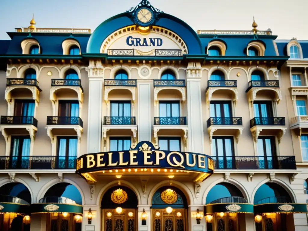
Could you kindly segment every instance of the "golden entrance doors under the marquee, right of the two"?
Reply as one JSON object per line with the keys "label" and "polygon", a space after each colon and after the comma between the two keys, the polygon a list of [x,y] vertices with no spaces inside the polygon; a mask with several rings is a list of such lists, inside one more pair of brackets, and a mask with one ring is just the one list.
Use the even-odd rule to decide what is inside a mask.
{"label": "golden entrance doors under the marquee, right of the two", "polygon": [[185,231],[187,227],[187,209],[151,209],[153,231]]}

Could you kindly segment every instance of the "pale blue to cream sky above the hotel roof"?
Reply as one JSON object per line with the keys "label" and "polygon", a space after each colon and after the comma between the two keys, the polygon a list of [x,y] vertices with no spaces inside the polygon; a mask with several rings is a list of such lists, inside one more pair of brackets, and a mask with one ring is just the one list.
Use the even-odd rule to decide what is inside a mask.
{"label": "pale blue to cream sky above the hotel roof", "polygon": [[[137,6],[140,0],[0,0],[0,39],[28,27],[34,13],[37,27],[89,28]],[[308,0],[150,0],[194,30],[258,30],[270,28],[278,39],[308,40]]]}

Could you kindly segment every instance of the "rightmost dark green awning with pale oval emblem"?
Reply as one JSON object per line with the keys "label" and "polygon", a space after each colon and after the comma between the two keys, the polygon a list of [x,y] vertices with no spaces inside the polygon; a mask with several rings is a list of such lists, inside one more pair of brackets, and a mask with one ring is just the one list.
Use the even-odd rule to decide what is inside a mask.
{"label": "rightmost dark green awning with pale oval emblem", "polygon": [[254,205],[255,214],[259,213],[308,213],[307,204],[298,203],[266,203]]}

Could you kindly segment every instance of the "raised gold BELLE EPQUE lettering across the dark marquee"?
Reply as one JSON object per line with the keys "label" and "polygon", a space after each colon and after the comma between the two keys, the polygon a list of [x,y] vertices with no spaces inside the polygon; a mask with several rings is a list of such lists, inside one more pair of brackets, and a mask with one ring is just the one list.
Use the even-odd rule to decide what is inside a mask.
{"label": "raised gold BELLE EPQUE lettering across the dark marquee", "polygon": [[122,151],[88,154],[82,157],[86,168],[125,168],[129,166],[153,166],[160,168],[207,168],[207,157],[188,152],[170,152],[160,150]]}

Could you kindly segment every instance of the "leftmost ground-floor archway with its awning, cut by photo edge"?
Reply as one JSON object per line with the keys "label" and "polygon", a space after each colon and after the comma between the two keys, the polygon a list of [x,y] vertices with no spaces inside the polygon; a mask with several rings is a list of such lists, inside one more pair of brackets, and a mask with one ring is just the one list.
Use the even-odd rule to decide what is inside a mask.
{"label": "leftmost ground-floor archway with its awning, cut by photo edge", "polygon": [[0,187],[0,230],[29,231],[31,194],[22,183]]}

